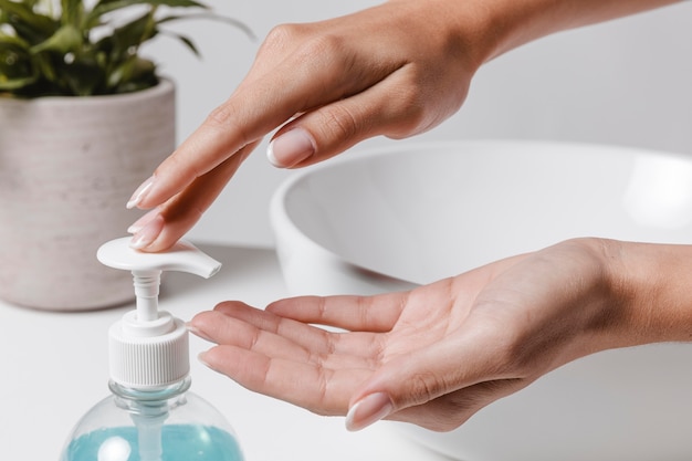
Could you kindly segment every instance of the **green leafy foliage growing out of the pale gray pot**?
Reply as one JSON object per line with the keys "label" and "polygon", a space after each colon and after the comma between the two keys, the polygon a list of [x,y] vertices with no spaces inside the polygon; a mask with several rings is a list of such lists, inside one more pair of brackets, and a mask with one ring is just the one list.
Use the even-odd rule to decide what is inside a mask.
{"label": "green leafy foliage growing out of the pale gray pot", "polygon": [[[114,14],[128,7],[136,17]],[[74,96],[154,86],[156,66],[138,55],[143,43],[166,33],[199,55],[188,36],[161,30],[182,19],[219,20],[252,36],[243,23],[214,15],[198,0],[0,0],[0,94]],[[95,28],[105,33],[92,34]]]}

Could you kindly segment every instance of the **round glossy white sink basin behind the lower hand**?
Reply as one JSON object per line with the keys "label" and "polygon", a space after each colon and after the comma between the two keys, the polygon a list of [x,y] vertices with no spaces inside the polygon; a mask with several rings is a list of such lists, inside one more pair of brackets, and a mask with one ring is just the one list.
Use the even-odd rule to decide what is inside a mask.
{"label": "round glossy white sink basin behind the lower hand", "polygon": [[[692,156],[541,142],[407,144],[303,170],[274,195],[292,294],[402,290],[573,237],[692,242]],[[692,459],[692,346],[564,366],[449,433],[463,461]]]}

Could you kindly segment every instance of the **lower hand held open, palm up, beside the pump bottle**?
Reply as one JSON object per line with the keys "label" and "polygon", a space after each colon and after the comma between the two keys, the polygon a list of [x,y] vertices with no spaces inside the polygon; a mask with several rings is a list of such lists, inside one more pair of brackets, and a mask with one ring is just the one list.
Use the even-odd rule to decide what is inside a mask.
{"label": "lower hand held open, palm up, beside the pump bottle", "polygon": [[226,302],[190,328],[218,344],[200,356],[212,369],[353,430],[451,430],[577,357],[652,339],[614,276],[621,248],[570,240],[403,293]]}

